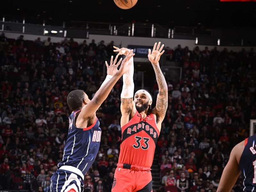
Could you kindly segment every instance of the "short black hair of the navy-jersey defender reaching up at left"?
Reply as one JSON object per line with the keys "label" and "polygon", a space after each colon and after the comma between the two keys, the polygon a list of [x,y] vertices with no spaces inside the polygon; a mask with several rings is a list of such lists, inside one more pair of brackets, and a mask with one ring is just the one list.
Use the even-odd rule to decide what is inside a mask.
{"label": "short black hair of the navy-jersey defender reaching up at left", "polygon": [[76,111],[76,110],[82,108],[83,100],[84,100],[84,91],[83,90],[71,91],[67,97],[68,106],[72,111]]}

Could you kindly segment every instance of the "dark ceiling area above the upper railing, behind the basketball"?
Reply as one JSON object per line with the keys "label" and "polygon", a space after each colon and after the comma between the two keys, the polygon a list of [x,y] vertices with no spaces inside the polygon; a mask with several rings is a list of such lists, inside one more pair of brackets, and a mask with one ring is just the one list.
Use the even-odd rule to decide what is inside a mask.
{"label": "dark ceiling area above the upper railing, behind the basketball", "polygon": [[[218,0],[138,0],[129,10],[113,0],[2,0],[0,15],[60,25],[62,21],[157,23],[175,27],[256,27],[256,2]],[[30,18],[30,19],[29,19]],[[10,19],[9,19],[10,20]],[[33,21],[32,21],[33,20]]]}

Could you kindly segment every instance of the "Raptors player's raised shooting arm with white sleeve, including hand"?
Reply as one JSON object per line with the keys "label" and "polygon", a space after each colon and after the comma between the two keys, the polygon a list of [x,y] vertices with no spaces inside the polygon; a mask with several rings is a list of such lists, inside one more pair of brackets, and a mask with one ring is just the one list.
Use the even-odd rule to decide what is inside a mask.
{"label": "Raptors player's raised shooting arm with white sleeve, including hand", "polygon": [[[117,55],[128,55],[130,50],[127,48],[121,48],[119,49],[118,47],[114,48],[114,52],[118,52]],[[135,103],[133,101],[133,92],[134,92],[134,83],[133,83],[133,71],[134,71],[134,66],[133,66],[133,58],[129,60],[131,62],[131,67],[129,70],[123,75],[123,89],[121,93],[121,127],[124,126],[129,122],[129,120],[134,116],[136,112],[135,108]]]}

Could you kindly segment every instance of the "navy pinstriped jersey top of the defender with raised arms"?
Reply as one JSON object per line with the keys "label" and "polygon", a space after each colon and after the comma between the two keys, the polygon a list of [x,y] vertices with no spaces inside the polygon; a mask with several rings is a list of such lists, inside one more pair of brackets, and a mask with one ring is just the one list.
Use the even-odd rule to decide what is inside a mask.
{"label": "navy pinstriped jersey top of the defender with raised arms", "polygon": [[94,123],[87,128],[75,126],[76,116],[81,110],[74,111],[69,118],[69,129],[66,145],[64,147],[63,159],[58,168],[70,165],[78,168],[83,175],[91,167],[100,148],[101,129],[100,122],[95,118]]}

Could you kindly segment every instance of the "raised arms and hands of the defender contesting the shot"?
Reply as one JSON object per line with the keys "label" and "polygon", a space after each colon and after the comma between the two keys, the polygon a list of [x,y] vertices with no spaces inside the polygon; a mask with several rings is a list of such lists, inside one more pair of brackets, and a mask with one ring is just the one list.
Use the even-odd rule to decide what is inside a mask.
{"label": "raised arms and hands of the defender contesting the shot", "polygon": [[93,99],[89,101],[89,103],[82,108],[81,114],[84,118],[94,116],[95,112],[98,110],[100,105],[108,97],[108,94],[110,93],[110,91],[112,90],[112,88],[114,87],[118,79],[129,70],[131,66],[131,63],[129,62],[129,60],[132,58],[133,55],[134,54],[132,54],[132,51],[131,51],[129,56],[127,56],[123,60],[119,70],[117,70],[117,67],[121,63],[122,59],[120,59],[116,64],[117,57],[114,62],[113,62],[113,57],[111,57],[110,66],[108,66],[106,62],[107,73],[108,75],[113,77],[109,79],[104,86],[101,86],[100,89],[95,93]]}

